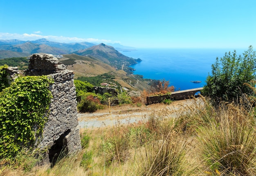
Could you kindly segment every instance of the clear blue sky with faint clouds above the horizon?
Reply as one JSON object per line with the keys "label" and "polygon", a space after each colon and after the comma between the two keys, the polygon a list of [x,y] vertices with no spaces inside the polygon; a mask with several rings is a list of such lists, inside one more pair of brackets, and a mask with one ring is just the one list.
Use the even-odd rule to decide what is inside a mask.
{"label": "clear blue sky with faint clouds above the horizon", "polygon": [[0,0],[0,40],[256,47],[255,0]]}

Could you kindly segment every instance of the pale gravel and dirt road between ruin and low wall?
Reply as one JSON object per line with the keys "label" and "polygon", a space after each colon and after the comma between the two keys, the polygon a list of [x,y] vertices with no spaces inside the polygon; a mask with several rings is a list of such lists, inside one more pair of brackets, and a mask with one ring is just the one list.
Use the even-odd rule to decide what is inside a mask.
{"label": "pale gravel and dirt road between ruin and low wall", "polygon": [[170,105],[163,103],[153,105],[120,105],[110,107],[110,109],[98,110],[94,113],[79,113],[79,126],[83,128],[109,127],[112,125],[122,125],[129,123],[139,123],[146,120],[150,115],[164,115],[164,117],[178,117],[181,113],[202,104],[201,98],[174,101]]}

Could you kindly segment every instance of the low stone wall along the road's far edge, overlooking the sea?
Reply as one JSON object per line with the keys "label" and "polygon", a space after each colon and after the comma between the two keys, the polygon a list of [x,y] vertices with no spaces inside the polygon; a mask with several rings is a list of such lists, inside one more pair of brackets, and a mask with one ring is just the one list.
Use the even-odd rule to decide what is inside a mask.
{"label": "low stone wall along the road's far edge, overlooking the sea", "polygon": [[198,91],[202,90],[203,88],[195,88],[195,89],[187,89],[183,91],[174,91],[171,92],[171,95],[163,95],[163,96],[150,96],[147,97],[147,104],[154,104],[154,103],[159,103],[163,102],[164,99],[171,99],[171,100],[184,100],[191,98],[191,96],[195,96],[195,93]]}

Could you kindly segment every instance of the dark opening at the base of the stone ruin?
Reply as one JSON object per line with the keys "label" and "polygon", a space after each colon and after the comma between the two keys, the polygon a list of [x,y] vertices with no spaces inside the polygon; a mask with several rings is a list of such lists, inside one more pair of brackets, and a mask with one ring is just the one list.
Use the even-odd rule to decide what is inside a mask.
{"label": "dark opening at the base of the stone ruin", "polygon": [[49,149],[49,162],[53,167],[61,158],[67,155],[67,138],[70,133],[70,129],[65,131],[57,140],[54,141],[54,145]]}

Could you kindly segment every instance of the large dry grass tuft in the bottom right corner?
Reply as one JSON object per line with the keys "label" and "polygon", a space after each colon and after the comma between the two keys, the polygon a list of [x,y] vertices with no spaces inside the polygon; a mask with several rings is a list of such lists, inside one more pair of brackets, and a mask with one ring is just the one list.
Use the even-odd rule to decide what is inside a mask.
{"label": "large dry grass tuft in the bottom right corner", "polygon": [[229,104],[218,109],[218,116],[211,119],[210,126],[200,128],[198,154],[202,160],[202,173],[256,175],[256,131],[253,116],[253,113]]}

